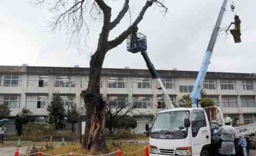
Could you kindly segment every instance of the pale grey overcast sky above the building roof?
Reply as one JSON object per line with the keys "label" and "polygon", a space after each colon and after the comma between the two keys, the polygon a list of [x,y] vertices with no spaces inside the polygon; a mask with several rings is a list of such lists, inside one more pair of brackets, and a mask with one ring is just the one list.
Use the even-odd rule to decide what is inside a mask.
{"label": "pale grey overcast sky above the building roof", "polygon": [[[115,17],[124,1],[109,1]],[[133,19],[146,0],[132,1],[135,4]],[[230,2],[222,26],[233,20]],[[255,0],[234,1],[235,13],[242,20],[242,43],[234,44],[231,35],[222,35],[214,48],[208,71],[256,72],[256,20]],[[148,54],[157,69],[198,70],[207,48],[211,31],[216,22],[221,0],[165,1],[169,7],[163,16],[156,6],[149,8],[139,31],[147,35]],[[90,25],[87,47],[83,51],[68,48],[65,35],[50,34],[46,27],[52,17],[44,8],[34,8],[28,1],[3,1],[0,5],[0,65],[67,66],[89,67],[89,54],[96,49],[100,23]],[[128,16],[110,34],[117,36],[129,25]],[[140,54],[126,51],[126,42],[109,51],[104,67],[145,68]]]}

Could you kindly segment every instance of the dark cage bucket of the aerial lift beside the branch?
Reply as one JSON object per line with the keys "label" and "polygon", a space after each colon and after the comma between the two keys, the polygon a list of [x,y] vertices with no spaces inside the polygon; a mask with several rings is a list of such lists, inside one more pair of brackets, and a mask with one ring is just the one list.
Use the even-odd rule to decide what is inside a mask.
{"label": "dark cage bucket of the aerial lift beside the branch", "polygon": [[144,34],[131,34],[127,38],[127,51],[138,53],[147,50],[147,37]]}

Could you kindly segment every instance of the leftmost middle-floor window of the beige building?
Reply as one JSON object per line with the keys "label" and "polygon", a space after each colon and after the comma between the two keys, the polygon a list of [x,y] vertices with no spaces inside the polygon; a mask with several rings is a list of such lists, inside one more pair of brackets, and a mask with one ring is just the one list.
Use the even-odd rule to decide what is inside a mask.
{"label": "leftmost middle-floor window of the beige building", "polygon": [[5,105],[9,108],[19,108],[21,96],[19,95],[0,95],[0,105]]}

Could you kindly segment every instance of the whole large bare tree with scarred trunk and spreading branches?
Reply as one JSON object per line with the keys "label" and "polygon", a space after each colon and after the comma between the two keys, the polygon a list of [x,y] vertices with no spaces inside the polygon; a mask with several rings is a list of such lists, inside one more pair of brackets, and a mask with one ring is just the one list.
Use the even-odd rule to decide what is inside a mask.
{"label": "whole large bare tree with scarred trunk and spreading branches", "polygon": [[[120,1],[120,0],[119,0]],[[140,0],[142,1],[142,0]],[[81,95],[85,101],[86,108],[86,129],[82,148],[89,153],[105,153],[105,109],[106,102],[100,95],[100,74],[105,59],[105,55],[112,48],[120,45],[134,30],[138,30],[137,25],[141,22],[147,9],[155,3],[167,8],[157,0],[144,0],[146,3],[141,8],[139,14],[121,34],[114,39],[109,39],[109,33],[125,17],[129,10],[130,0],[124,0],[124,5],[115,18],[111,18],[112,8],[107,0],[34,0],[36,6],[47,6],[54,14],[51,28],[64,29],[68,39],[74,37],[84,37],[89,32],[88,23],[90,19],[100,19],[102,22],[99,34],[97,50],[91,56],[88,88],[82,91]],[[90,19],[89,19],[90,18]]]}

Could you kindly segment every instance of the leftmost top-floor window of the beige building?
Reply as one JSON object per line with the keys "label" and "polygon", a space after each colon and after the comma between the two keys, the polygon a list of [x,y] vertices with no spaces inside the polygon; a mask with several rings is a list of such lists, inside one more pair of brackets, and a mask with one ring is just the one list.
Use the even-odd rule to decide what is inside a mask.
{"label": "leftmost top-floor window of the beige building", "polygon": [[0,76],[0,86],[4,87],[17,87],[19,85],[18,75],[2,75]]}

